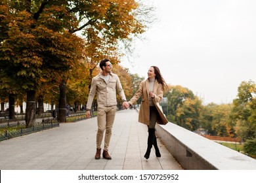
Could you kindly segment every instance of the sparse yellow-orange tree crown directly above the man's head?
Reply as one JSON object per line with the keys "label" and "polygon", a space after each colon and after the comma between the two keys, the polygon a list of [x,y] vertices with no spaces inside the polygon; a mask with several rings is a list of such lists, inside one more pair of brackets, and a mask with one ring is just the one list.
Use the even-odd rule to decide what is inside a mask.
{"label": "sparse yellow-orange tree crown directly above the man's head", "polygon": [[[83,1],[76,6],[86,9],[79,14],[81,26],[72,32],[83,31],[89,80],[93,78],[93,70],[100,59],[108,58],[113,65],[119,63],[123,56],[123,52],[119,51],[120,43],[129,50],[127,45],[131,46],[129,42],[132,38],[144,33],[154,19],[154,16],[150,16],[154,9],[142,4],[142,1]],[[85,24],[81,24],[82,20]]]}

